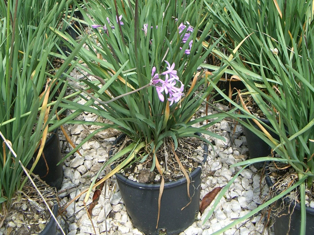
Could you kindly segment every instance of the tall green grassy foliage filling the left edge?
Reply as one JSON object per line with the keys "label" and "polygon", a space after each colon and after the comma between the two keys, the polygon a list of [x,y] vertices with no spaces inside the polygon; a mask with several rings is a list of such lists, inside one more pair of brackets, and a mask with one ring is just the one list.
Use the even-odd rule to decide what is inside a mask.
{"label": "tall green grassy foliage filling the left edge", "polygon": [[[49,73],[51,67],[53,68],[51,62],[53,53],[57,51],[56,44],[60,41],[49,27],[59,27],[60,19],[63,18],[62,13],[68,6],[66,1],[51,4],[51,1],[30,3],[17,0],[13,6],[11,3],[12,1],[8,1],[7,4],[0,4],[3,21],[0,25],[0,60],[3,65],[0,69],[2,215],[12,208],[12,198],[18,194],[17,191],[23,190],[26,181],[21,181],[23,171],[26,171],[24,167],[28,165],[38,148],[35,163],[30,166],[28,175],[41,158],[49,132],[48,123],[54,124],[55,128],[61,124],[61,121],[53,122],[66,90],[66,86],[61,89],[61,84],[65,81],[59,77],[74,57],[74,54],[70,55],[55,74]],[[34,11],[25,11],[24,8],[32,8]],[[54,71],[55,69],[53,68]],[[57,90],[58,97],[52,102],[51,97]],[[53,128],[50,128],[51,130]],[[56,209],[54,211],[56,212]],[[4,218],[2,223],[6,223],[7,219]]]}

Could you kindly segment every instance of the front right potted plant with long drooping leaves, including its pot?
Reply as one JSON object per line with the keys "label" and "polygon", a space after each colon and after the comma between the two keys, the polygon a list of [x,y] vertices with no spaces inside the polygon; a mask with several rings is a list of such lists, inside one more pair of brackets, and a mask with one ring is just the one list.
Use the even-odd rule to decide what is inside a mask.
{"label": "front right potted plant with long drooping leaves, including its pot", "polygon": [[[288,11],[288,9],[292,10],[295,8],[287,6],[286,9]],[[295,11],[297,10],[295,9]],[[275,167],[272,169],[276,171],[276,174],[282,174],[282,176],[278,182],[271,182],[268,178],[267,181],[273,184],[270,188],[271,197],[269,200],[214,234],[219,234],[235,226],[272,203],[276,203],[277,200],[277,204],[271,208],[275,211],[273,214],[273,217],[275,217],[275,234],[313,233],[311,225],[313,209],[309,206],[309,201],[312,200],[311,188],[314,176],[312,159],[312,128],[314,125],[312,111],[314,87],[312,80],[314,63],[312,60],[313,26],[310,17],[311,4],[304,4],[304,8],[302,5],[301,10],[304,10],[305,15],[304,18],[298,18],[298,24],[295,24],[297,26],[294,32],[302,33],[296,37],[291,35],[289,42],[292,45],[291,48],[287,46],[288,43],[286,43],[284,36],[285,32],[289,34],[288,31],[291,28],[284,29],[284,23],[280,20],[276,23],[278,35],[274,40],[263,39],[263,49],[260,48],[259,65],[256,65],[259,66],[261,75],[246,69],[243,62],[239,59],[230,62],[230,66],[241,77],[257,106],[269,120],[270,125],[266,125],[248,111],[242,99],[243,94],[240,92],[241,105],[235,102],[233,104],[241,109],[244,114],[233,114],[231,116],[262,138],[271,147],[273,153],[270,157],[250,159],[233,166],[244,165],[244,169],[253,163],[263,161],[275,162]],[[285,12],[285,15],[288,15],[287,12]],[[304,24],[303,28],[301,23],[304,21],[306,24]],[[263,32],[259,32],[259,34],[263,34]],[[262,53],[264,54],[263,56]],[[266,64],[262,60],[263,57],[269,58]],[[265,73],[265,70],[268,70],[268,72]],[[258,82],[255,79],[257,77],[262,80]],[[257,84],[263,85],[263,90],[259,89],[256,86]],[[218,92],[223,95],[223,92]],[[224,97],[228,99],[227,96]],[[231,100],[229,101],[232,102]],[[251,119],[258,128],[251,122],[246,122],[241,118]],[[270,134],[271,132],[278,135],[279,140],[273,138]],[[279,162],[285,163],[284,167],[279,167]],[[230,180],[227,186],[231,185],[238,174]],[[289,176],[293,177],[288,181],[284,181],[287,180],[285,177]],[[271,176],[268,177],[272,178]],[[227,187],[221,191],[217,201],[219,201],[219,198],[223,196],[226,190]],[[309,201],[306,199],[307,197],[309,197]],[[215,202],[207,217],[210,217],[216,205],[217,203]],[[282,210],[282,205],[287,207],[284,207],[284,210]]]}

